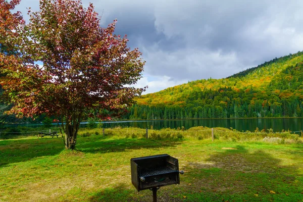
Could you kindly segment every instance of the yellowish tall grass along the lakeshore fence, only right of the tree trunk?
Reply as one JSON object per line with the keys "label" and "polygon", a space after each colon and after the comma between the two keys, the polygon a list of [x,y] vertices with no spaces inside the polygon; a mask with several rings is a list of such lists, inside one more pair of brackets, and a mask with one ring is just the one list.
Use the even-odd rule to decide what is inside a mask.
{"label": "yellowish tall grass along the lakeshore fence, only right of the tree trunk", "polygon": [[[257,128],[255,131],[240,132],[233,128],[213,128],[215,140],[225,141],[263,141],[264,138],[280,138],[279,143],[302,143],[302,138],[299,134],[294,134],[291,131],[282,131],[274,133],[272,129],[265,131],[259,131]],[[90,135],[104,135],[107,137],[116,136],[122,138],[146,138],[146,129],[133,128],[133,127],[115,127],[115,128],[81,128],[78,133],[80,136],[86,137]],[[150,139],[184,139],[193,138],[197,140],[210,139],[212,138],[212,129],[208,127],[198,126],[192,127],[185,130],[184,127],[171,129],[163,128],[160,130],[148,129],[148,138]]]}

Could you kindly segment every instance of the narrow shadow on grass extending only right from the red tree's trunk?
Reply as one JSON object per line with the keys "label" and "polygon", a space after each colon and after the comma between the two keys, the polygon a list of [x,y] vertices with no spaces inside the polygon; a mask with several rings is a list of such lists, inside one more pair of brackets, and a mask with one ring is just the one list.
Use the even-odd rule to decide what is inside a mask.
{"label": "narrow shadow on grass extending only right from the red tree's trunk", "polygon": [[153,139],[101,139],[95,141],[91,138],[90,141],[79,142],[77,150],[84,153],[112,153],[125,150],[141,149],[141,148],[163,148],[174,147],[181,144],[181,140],[153,140]]}

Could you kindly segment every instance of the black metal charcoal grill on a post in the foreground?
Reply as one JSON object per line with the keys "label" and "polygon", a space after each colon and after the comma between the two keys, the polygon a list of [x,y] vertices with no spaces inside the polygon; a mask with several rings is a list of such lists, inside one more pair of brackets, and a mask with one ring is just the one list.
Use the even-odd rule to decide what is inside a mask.
{"label": "black metal charcoal grill on a post in the foreground", "polygon": [[154,202],[161,186],[180,184],[178,159],[167,154],[130,160],[131,182],[138,191],[153,190]]}

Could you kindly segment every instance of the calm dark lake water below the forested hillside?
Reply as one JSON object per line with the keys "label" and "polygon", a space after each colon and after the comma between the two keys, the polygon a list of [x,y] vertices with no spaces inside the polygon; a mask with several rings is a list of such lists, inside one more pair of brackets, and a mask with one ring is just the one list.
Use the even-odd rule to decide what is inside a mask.
{"label": "calm dark lake water below the forested hillside", "polygon": [[[81,123],[80,127],[86,127],[87,123]],[[14,124],[9,127],[16,126],[37,127],[41,124]],[[191,119],[191,120],[161,120],[161,121],[117,121],[117,122],[104,122],[105,128],[116,126],[122,127],[139,127],[154,129],[161,128],[178,128],[184,126],[185,129],[194,126],[207,126],[235,128],[239,131],[255,131],[258,127],[259,130],[272,128],[274,132],[284,130],[301,131],[303,130],[303,118],[281,118],[281,119]]]}

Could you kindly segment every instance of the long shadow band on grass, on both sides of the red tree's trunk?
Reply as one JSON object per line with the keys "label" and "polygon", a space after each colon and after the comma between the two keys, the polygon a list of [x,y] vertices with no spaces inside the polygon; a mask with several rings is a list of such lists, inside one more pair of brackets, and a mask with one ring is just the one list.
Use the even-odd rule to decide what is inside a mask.
{"label": "long shadow band on grass, on both sides of the red tree's trunk", "polygon": [[[146,139],[108,139],[80,137],[76,149],[84,153],[112,153],[128,149],[172,147],[180,141]],[[0,168],[34,158],[55,156],[64,150],[62,138],[13,139],[0,141]]]}

